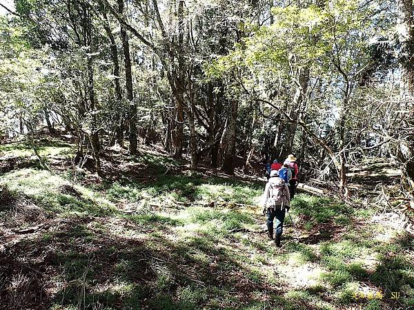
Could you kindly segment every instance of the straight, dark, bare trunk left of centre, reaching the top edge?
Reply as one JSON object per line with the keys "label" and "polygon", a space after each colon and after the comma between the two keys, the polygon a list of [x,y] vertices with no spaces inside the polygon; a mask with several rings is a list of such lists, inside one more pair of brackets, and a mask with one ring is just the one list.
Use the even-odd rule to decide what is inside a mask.
{"label": "straight, dark, bare trunk left of centre, reaching the top edge", "polygon": [[[118,0],[119,14],[124,14],[124,0]],[[128,122],[129,122],[129,142],[130,154],[137,154],[137,105],[134,103],[134,94],[132,90],[132,71],[131,57],[128,34],[124,25],[121,25],[122,49],[124,51],[125,61],[125,78],[126,78],[126,99],[128,101]]]}

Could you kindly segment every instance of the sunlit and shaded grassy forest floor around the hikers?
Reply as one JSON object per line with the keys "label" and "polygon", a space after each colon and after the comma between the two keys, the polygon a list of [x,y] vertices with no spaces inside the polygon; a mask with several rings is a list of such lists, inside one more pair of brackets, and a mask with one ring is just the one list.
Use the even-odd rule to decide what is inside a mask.
{"label": "sunlit and shaded grassy forest floor around the hikers", "polygon": [[263,181],[113,149],[101,180],[37,144],[51,173],[0,145],[0,309],[414,309],[399,214],[301,193],[279,249],[246,206]]}

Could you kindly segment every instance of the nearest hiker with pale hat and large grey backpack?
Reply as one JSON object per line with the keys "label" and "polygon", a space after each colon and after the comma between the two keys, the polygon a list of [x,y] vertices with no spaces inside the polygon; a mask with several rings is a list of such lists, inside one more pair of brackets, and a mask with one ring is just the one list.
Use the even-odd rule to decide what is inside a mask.
{"label": "nearest hiker with pale hat and large grey backpack", "polygon": [[[285,181],[279,178],[277,170],[270,172],[270,178],[264,189],[260,206],[264,208],[263,214],[267,215],[268,237],[275,239],[277,247],[280,247],[283,222],[286,210],[289,211],[290,195]],[[275,237],[273,238],[273,220],[276,218]]]}

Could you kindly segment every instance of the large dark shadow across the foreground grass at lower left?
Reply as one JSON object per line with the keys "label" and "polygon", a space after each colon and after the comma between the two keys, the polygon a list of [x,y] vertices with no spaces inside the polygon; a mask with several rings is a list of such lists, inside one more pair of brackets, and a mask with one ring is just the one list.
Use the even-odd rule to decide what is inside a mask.
{"label": "large dark shadow across the foreground grass at lower left", "polygon": [[310,296],[280,296],[213,236],[174,242],[167,233],[124,238],[84,219],[17,242],[0,258],[0,307],[319,309]]}

